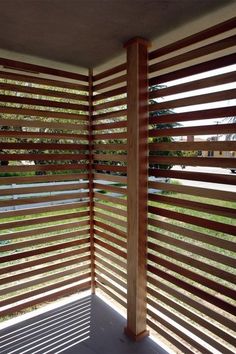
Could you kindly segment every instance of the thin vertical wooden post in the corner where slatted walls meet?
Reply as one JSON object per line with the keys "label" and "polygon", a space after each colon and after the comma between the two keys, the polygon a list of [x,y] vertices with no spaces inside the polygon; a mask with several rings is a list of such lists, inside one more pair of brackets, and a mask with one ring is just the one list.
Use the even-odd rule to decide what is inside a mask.
{"label": "thin vertical wooden post in the corner where slatted walls meet", "polygon": [[93,70],[89,69],[89,218],[90,218],[90,256],[91,291],[95,293],[95,249],[94,249],[94,192],[93,192]]}

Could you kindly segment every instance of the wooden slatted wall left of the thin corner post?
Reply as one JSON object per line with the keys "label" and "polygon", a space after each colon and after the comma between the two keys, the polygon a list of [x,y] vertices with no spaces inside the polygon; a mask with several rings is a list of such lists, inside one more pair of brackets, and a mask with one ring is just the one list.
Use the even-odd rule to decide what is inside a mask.
{"label": "wooden slatted wall left of the thin corner post", "polygon": [[0,65],[6,319],[90,287],[88,77],[12,60]]}

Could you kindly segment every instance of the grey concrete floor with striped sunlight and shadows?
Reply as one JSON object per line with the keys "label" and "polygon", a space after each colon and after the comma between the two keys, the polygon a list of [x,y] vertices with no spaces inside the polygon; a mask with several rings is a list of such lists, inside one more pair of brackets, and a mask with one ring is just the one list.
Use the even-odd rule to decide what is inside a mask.
{"label": "grey concrete floor with striped sunlight and shadows", "polygon": [[87,296],[0,331],[1,354],[167,354],[150,338],[134,343],[125,319],[99,297]]}

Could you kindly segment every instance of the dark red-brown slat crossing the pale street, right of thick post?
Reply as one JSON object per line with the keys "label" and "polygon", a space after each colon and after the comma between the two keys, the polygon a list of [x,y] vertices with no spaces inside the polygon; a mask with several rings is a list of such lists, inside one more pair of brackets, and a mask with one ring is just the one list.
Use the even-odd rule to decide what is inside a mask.
{"label": "dark red-brown slat crossing the pale street, right of thick post", "polygon": [[232,175],[224,175],[224,174],[208,173],[208,172],[177,171],[172,169],[162,170],[162,169],[151,168],[149,169],[149,176],[236,185],[236,178],[234,178],[234,176]]}

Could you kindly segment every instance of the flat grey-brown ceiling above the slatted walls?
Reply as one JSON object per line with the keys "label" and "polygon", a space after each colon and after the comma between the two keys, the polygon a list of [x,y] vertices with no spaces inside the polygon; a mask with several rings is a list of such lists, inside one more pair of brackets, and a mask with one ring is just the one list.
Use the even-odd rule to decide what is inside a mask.
{"label": "flat grey-brown ceiling above the slatted walls", "polygon": [[231,1],[0,0],[0,48],[96,67],[130,38],[154,40]]}

